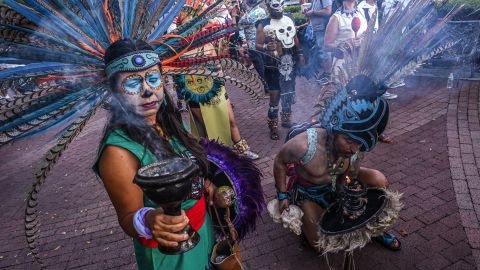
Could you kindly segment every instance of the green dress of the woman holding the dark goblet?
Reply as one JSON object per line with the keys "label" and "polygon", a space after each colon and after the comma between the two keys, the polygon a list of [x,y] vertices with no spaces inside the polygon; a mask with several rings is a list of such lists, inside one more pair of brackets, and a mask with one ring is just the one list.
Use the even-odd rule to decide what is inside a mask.
{"label": "green dress of the woman holding the dark goblet", "polygon": [[[169,143],[177,153],[187,151],[186,148],[175,138],[171,138]],[[98,159],[93,166],[93,170],[98,174],[98,163],[101,153],[107,145],[118,146],[130,151],[140,161],[140,166],[146,166],[157,161],[156,157],[141,144],[131,140],[123,131],[114,130],[102,143]],[[133,179],[132,179],[133,181]],[[145,207],[158,207],[152,201],[144,197]],[[190,209],[197,200],[187,199],[182,203],[182,209]],[[162,269],[162,270],[199,270],[210,269],[209,256],[215,243],[212,221],[208,213],[205,213],[205,220],[198,230],[200,242],[193,249],[180,255],[165,255],[157,248],[148,248],[140,244],[137,239],[133,239],[135,247],[135,256],[138,269]]]}

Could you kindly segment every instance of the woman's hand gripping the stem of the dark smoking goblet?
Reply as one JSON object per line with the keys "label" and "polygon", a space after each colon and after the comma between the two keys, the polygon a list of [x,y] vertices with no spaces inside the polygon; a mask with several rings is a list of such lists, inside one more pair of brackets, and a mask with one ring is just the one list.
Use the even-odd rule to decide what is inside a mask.
{"label": "woman's hand gripping the stem of the dark smoking goblet", "polygon": [[180,216],[165,215],[161,208],[149,211],[145,215],[145,223],[152,231],[153,239],[164,247],[176,247],[178,242],[188,239],[188,234],[177,233],[185,228],[188,222],[183,210]]}

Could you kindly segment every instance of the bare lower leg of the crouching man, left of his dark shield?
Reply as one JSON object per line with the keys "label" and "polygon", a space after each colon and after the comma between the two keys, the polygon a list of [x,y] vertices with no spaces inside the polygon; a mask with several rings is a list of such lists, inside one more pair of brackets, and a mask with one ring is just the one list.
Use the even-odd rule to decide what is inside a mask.
{"label": "bare lower leg of the crouching man, left of his dark shield", "polygon": [[320,217],[322,216],[323,211],[325,211],[320,205],[304,200],[300,206],[303,211],[302,217],[302,230],[307,238],[308,244],[314,249],[317,250],[315,245],[318,241],[318,224],[320,222]]}

